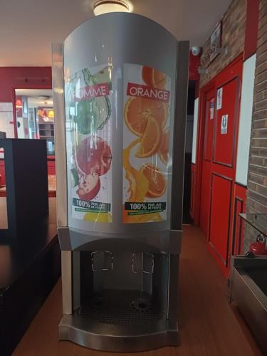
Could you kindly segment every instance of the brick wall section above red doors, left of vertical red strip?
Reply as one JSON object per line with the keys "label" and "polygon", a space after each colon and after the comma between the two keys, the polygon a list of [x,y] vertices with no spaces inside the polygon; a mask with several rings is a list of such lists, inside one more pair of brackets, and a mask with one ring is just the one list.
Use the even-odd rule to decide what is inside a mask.
{"label": "brick wall section above red doors, left of vertical red strip", "polygon": [[[200,88],[216,76],[244,51],[246,31],[246,0],[233,0],[222,21],[221,46],[228,47],[227,54],[219,54],[209,63],[210,38],[203,46],[201,67],[208,68],[207,74],[200,75]],[[206,58],[206,59],[205,59]]]}

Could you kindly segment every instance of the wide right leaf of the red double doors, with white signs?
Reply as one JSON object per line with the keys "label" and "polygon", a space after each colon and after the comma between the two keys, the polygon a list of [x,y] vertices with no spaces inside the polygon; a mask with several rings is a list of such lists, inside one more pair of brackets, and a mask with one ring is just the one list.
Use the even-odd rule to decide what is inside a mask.
{"label": "wide right leaf of the red double doors, with white signs", "polygon": [[209,246],[225,273],[229,269],[236,175],[236,144],[239,128],[242,61],[216,78],[214,145],[211,159]]}

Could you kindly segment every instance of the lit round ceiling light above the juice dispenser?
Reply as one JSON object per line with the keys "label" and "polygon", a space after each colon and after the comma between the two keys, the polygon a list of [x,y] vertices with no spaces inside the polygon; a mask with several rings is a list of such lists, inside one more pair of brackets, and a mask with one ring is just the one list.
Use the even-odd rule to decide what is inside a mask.
{"label": "lit round ceiling light above the juice dispenser", "polygon": [[132,3],[126,0],[98,0],[93,4],[95,16],[108,12],[132,12]]}

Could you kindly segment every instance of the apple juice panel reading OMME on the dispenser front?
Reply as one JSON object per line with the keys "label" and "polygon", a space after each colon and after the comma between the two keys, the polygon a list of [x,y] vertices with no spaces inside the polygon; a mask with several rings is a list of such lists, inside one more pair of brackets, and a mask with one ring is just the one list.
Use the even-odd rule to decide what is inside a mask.
{"label": "apple juice panel reading OMME on the dispenser front", "polygon": [[66,83],[68,189],[72,217],[112,222],[112,106],[108,64]]}

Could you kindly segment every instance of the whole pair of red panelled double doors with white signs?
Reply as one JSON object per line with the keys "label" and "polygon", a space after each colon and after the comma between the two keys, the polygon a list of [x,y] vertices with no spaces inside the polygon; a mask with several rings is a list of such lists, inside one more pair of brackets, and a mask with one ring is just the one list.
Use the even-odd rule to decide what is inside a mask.
{"label": "whole pair of red panelled double doors with white signs", "polygon": [[[240,56],[200,91],[199,98],[199,171],[194,177],[201,181],[197,183],[199,224],[225,275],[234,248],[233,211],[239,208],[234,207],[234,180],[242,68]],[[240,231],[239,226],[236,229]]]}

